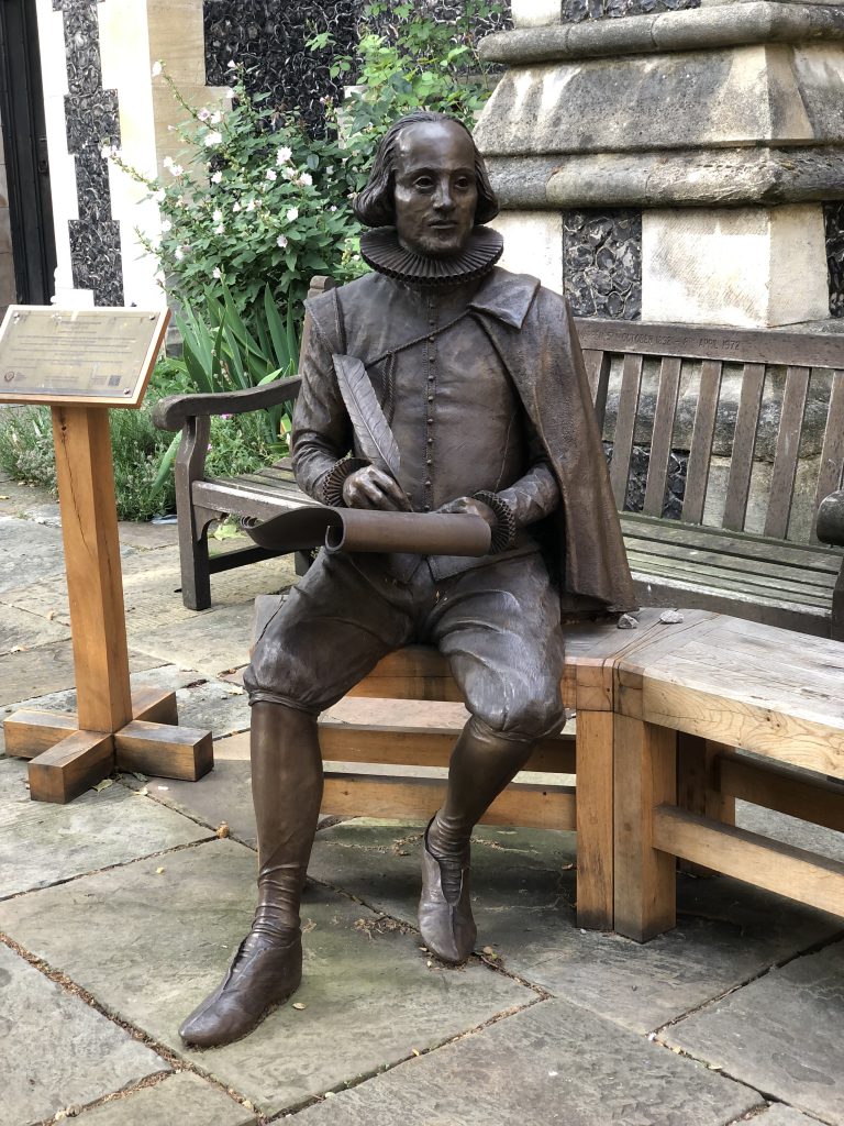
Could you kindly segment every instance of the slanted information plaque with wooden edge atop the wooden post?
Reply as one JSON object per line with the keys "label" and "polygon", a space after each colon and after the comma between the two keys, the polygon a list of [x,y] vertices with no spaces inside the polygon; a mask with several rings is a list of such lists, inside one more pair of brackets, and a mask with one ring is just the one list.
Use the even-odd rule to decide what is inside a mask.
{"label": "slanted information plaque with wooden edge atop the wooden post", "polygon": [[140,406],[168,320],[168,310],[10,305],[0,402]]}

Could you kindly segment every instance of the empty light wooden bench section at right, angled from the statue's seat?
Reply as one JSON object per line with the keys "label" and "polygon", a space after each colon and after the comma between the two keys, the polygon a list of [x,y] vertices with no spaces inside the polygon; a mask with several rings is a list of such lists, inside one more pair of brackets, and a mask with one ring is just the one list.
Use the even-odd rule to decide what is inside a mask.
{"label": "empty light wooden bench section at right, angled from the statue's seat", "polygon": [[613,685],[614,929],[674,926],[675,857],[844,915],[844,864],[730,824],[739,797],[844,830],[844,645],[688,613]]}

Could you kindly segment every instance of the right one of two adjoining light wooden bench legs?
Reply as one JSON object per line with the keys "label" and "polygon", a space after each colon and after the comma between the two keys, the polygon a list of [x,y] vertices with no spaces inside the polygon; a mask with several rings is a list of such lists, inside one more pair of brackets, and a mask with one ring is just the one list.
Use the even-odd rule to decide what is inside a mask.
{"label": "right one of two adjoining light wooden bench legs", "polygon": [[637,942],[676,922],[675,860],[652,844],[653,811],[676,797],[676,732],[614,717],[614,928]]}

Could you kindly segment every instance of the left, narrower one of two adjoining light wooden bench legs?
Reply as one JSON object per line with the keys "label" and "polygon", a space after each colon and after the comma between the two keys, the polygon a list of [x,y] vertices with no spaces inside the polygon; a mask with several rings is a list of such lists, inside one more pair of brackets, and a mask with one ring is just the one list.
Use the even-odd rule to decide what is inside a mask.
{"label": "left, narrower one of two adjoining light wooden bench legs", "polygon": [[577,926],[612,930],[612,713],[577,713]]}

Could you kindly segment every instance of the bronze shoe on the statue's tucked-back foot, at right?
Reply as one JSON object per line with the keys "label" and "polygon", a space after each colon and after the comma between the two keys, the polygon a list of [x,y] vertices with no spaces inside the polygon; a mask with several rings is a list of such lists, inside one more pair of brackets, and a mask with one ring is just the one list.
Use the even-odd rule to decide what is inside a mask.
{"label": "bronze shoe on the statue's tucked-back foot, at right", "polygon": [[[432,823],[432,822],[431,822]],[[419,929],[422,941],[443,962],[460,965],[475,948],[477,928],[469,900],[469,849],[459,857],[439,859],[428,847],[429,823],[422,839],[422,896],[419,901]],[[459,865],[459,894],[451,902],[442,887],[445,865]]]}

